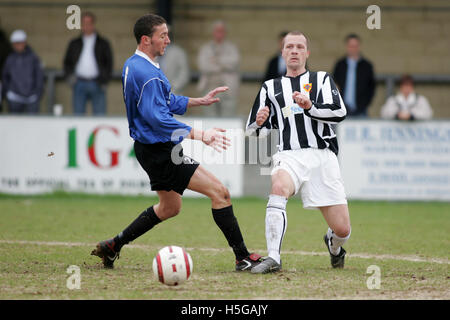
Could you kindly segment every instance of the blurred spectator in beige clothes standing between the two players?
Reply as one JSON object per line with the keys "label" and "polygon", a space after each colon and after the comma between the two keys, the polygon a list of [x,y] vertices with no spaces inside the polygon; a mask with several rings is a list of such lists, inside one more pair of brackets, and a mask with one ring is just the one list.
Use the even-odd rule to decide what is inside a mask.
{"label": "blurred spectator in beige clothes standing between the two players", "polygon": [[239,50],[226,40],[226,26],[217,21],[213,25],[213,40],[200,48],[198,90],[202,95],[219,86],[229,87],[215,106],[205,108],[207,116],[235,116],[240,83]]}

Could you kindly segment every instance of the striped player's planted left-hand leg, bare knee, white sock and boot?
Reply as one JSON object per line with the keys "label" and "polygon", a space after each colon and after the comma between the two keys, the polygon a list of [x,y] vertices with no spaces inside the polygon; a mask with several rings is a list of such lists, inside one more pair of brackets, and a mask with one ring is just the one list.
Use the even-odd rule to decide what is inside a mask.
{"label": "striped player's planted left-hand leg, bare knee, white sock and boot", "polygon": [[279,169],[272,175],[272,189],[266,209],[266,242],[268,257],[252,269],[252,273],[269,273],[281,269],[281,244],[287,227],[286,204],[295,193],[288,172]]}

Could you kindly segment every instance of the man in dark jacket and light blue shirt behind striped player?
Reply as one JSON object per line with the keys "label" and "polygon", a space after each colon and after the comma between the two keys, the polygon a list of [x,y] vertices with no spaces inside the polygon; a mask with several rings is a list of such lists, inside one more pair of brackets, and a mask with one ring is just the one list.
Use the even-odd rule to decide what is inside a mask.
{"label": "man in dark jacket and light blue shirt behind striped player", "polygon": [[333,78],[347,107],[347,116],[367,117],[367,108],[375,94],[373,66],[361,55],[358,35],[350,34],[345,40],[347,56],[336,63]]}

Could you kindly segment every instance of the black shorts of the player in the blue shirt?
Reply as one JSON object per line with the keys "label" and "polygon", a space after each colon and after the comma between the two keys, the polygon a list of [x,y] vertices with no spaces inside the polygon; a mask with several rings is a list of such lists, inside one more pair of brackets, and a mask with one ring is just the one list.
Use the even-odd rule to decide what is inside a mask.
{"label": "black shorts of the player in the blue shirt", "polygon": [[[174,147],[176,146],[176,149]],[[174,160],[172,160],[174,150]],[[143,144],[134,142],[134,152],[141,167],[150,178],[153,191],[175,191],[180,195],[200,163],[183,155],[181,145],[173,142]]]}

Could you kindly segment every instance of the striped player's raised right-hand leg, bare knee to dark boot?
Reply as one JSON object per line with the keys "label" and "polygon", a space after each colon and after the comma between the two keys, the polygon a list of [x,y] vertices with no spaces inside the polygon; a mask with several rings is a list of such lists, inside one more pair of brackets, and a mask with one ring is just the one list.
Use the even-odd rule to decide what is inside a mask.
{"label": "striped player's raised right-hand leg, bare knee to dark boot", "polygon": [[348,206],[340,204],[321,207],[320,211],[329,226],[324,241],[330,252],[331,265],[333,268],[343,268],[346,252],[342,246],[351,234]]}

